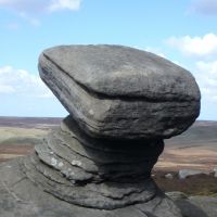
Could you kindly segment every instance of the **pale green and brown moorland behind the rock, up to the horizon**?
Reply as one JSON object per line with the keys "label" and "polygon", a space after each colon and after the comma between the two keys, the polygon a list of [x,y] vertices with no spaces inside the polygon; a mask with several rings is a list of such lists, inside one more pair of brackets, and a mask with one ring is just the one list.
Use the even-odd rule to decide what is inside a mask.
{"label": "pale green and brown moorland behind the rock, up to the horizon", "polygon": [[[0,162],[34,152],[34,145],[62,118],[0,117]],[[155,169],[212,171],[217,165],[217,122],[196,122],[186,132],[165,140]]]}

